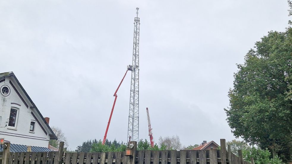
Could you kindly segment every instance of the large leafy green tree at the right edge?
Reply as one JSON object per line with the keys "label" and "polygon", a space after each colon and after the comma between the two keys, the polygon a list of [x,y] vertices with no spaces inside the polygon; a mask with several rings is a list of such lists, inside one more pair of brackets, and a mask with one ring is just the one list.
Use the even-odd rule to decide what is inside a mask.
{"label": "large leafy green tree at the right edge", "polygon": [[236,137],[268,148],[284,162],[292,160],[291,45],[290,27],[270,31],[256,42],[244,64],[237,65],[234,88],[228,93],[230,107],[224,109]]}

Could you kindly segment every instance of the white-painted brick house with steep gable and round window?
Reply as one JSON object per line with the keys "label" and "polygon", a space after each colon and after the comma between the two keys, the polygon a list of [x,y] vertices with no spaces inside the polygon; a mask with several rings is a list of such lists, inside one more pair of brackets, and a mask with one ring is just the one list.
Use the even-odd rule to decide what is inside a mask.
{"label": "white-painted brick house with steep gable and round window", "polygon": [[58,139],[13,72],[0,73],[0,138],[12,144],[48,147]]}

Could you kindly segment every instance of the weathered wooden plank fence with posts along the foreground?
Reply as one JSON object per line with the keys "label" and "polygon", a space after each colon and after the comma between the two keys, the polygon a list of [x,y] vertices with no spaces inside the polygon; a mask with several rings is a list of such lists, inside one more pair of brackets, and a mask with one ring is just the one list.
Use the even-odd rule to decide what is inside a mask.
{"label": "weathered wooden plank fence with posts along the foreground", "polygon": [[[64,153],[63,143],[59,152],[8,152],[4,149],[0,164],[250,164],[226,151],[225,139],[221,139],[221,150],[140,150],[134,155],[125,156],[125,152],[80,152]],[[61,156],[59,156],[61,154]]]}

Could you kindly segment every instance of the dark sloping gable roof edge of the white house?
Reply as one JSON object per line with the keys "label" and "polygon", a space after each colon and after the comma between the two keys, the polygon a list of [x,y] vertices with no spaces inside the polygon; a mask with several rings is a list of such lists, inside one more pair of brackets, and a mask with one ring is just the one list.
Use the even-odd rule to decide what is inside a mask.
{"label": "dark sloping gable roof edge of the white house", "polygon": [[[50,130],[50,139],[58,139],[57,136],[55,135],[55,133],[53,132],[53,130],[50,128],[49,124],[45,121],[45,118],[42,116],[41,112],[39,111],[39,109],[37,109],[37,106],[34,104],[34,102],[31,100],[31,98],[29,97],[29,95],[26,93],[26,91],[24,90],[24,88],[22,87],[22,85],[20,84],[20,82],[18,81],[18,79],[16,78],[16,76],[14,75],[13,72],[4,72],[4,73],[0,73],[0,81],[2,79],[5,79],[7,77],[13,77],[16,81],[16,83],[18,84],[18,86],[21,88],[21,90],[23,91],[23,93],[26,95],[26,97],[29,99],[30,103],[33,106],[33,109],[37,112],[37,114],[41,117],[41,119],[43,120],[43,122],[45,123],[45,125],[48,127],[48,129]],[[32,110],[33,110],[32,109]]]}

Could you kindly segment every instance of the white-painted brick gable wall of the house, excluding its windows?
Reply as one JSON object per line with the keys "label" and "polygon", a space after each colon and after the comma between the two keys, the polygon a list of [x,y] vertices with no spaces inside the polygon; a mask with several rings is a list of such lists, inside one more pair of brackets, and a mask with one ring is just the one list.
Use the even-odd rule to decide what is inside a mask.
{"label": "white-painted brick gable wall of the house, excluding its windows", "polygon": [[[28,108],[23,104],[23,101],[19,98],[15,90],[9,83],[9,80],[12,81],[13,85],[17,88],[18,92],[21,94],[25,102],[28,104]],[[10,94],[8,96],[3,96],[0,93],[0,116],[2,117],[2,121],[0,122],[0,138],[5,138],[5,140],[10,141],[12,144],[22,144],[22,145],[30,145],[30,146],[38,146],[38,147],[48,147],[49,135],[46,135],[45,132],[41,129],[40,125],[35,122],[35,130],[34,132],[30,132],[30,123],[31,121],[36,121],[34,117],[31,115],[33,113],[37,116],[37,112],[34,109],[30,109],[32,106],[26,96],[22,93],[22,90],[18,85],[13,82],[13,78],[6,78],[5,82],[0,83],[0,87],[2,85],[7,85],[10,88]],[[1,90],[0,90],[1,92]],[[21,106],[11,104],[17,103]],[[18,108],[18,119],[16,123],[16,127],[8,127],[8,119],[10,116],[10,109]],[[1,120],[1,119],[0,119]],[[41,118],[38,120],[42,122]],[[7,124],[7,127],[3,127]],[[42,125],[46,128],[46,125]],[[47,130],[47,133],[48,130]]]}

